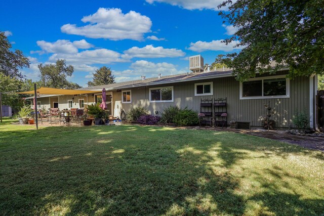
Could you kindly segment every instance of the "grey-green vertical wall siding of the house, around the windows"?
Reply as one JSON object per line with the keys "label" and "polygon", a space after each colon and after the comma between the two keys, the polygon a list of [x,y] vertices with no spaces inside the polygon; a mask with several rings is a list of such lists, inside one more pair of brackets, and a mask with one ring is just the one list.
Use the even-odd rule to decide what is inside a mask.
{"label": "grey-green vertical wall siding of the house, around the windows", "polygon": [[[213,96],[194,96],[194,83],[213,82]],[[239,99],[239,82],[234,77],[224,77],[217,79],[206,79],[199,81],[189,81],[173,83],[167,85],[154,85],[154,87],[173,86],[174,102],[150,103],[149,88],[142,87],[132,90],[132,103],[121,103],[121,92],[114,92],[114,103],[120,103],[120,108],[126,113],[131,106],[144,106],[151,114],[155,111],[159,113],[166,107],[177,105],[179,107],[188,107],[197,112],[200,110],[200,99],[207,98],[227,98],[228,121],[244,120],[251,121],[251,126],[262,126],[262,119],[266,116],[265,104],[270,101],[270,107],[273,108],[274,114],[272,119],[276,127],[289,127],[292,125],[292,116],[295,110],[306,109],[309,113],[309,77],[297,77],[290,80],[290,98],[280,99]]]}

